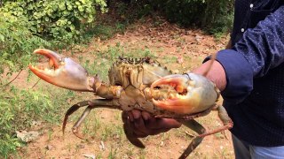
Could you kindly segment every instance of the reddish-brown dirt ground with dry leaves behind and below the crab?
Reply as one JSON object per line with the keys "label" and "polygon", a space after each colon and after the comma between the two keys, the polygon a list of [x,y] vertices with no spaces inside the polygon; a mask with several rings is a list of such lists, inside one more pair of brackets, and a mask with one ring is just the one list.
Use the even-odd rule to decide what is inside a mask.
{"label": "reddish-brown dirt ground with dry leaves behind and below the crab", "polygon": [[[124,34],[115,34],[105,41],[93,38],[87,46],[78,46],[80,54],[73,55],[67,50],[65,55],[75,59],[79,56],[91,58],[94,51],[99,52],[119,42],[126,52],[149,49],[157,59],[175,57],[170,61],[162,58],[162,61],[174,72],[187,72],[201,64],[204,57],[224,49],[226,39],[225,37],[217,41],[214,37],[203,34],[201,30],[180,28],[162,19],[159,24],[155,24],[152,19],[145,19],[126,28]],[[21,84],[25,75],[27,73],[22,73],[13,85]],[[77,117],[79,115],[80,113]],[[14,158],[177,158],[194,135],[182,126],[168,133],[142,139],[146,148],[139,149],[132,146],[122,133],[121,111],[99,109],[91,112],[90,116],[82,128],[84,133],[89,134],[88,140],[80,140],[71,133],[75,120],[68,121],[65,135],[62,134],[60,125],[36,125],[32,130],[41,133],[39,139],[28,143],[27,147],[19,148],[19,154]],[[198,118],[197,121],[208,129],[222,125],[216,112]],[[188,158],[233,157],[231,134],[225,131],[205,137]]]}

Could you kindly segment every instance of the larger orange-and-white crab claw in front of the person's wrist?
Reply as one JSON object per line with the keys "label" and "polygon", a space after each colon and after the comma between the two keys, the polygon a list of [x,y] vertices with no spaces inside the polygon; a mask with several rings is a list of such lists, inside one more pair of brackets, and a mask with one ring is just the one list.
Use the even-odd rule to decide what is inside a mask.
{"label": "larger orange-and-white crab claw in front of the person's wrist", "polygon": [[163,89],[164,86],[173,87],[178,95],[168,95],[167,99],[162,100],[153,99],[154,105],[162,110],[177,114],[194,114],[208,110],[217,102],[218,92],[214,83],[192,72],[165,76],[154,81],[151,89]]}

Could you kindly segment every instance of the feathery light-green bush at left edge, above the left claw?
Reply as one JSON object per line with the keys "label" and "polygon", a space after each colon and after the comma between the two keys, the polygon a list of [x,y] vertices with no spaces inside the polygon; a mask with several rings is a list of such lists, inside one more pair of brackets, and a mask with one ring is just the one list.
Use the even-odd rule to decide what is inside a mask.
{"label": "feathery light-green bush at left edge, above the left claw", "polygon": [[0,73],[4,67],[17,71],[28,65],[34,49],[50,46],[30,31],[28,19],[0,11]]}

